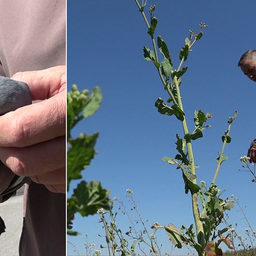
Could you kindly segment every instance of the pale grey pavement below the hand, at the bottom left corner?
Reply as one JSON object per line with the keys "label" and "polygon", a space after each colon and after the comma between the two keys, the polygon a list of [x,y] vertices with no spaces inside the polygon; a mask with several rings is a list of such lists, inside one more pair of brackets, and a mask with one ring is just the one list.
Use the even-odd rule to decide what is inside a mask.
{"label": "pale grey pavement below the hand, at the bottom left corner", "polygon": [[20,234],[23,223],[23,188],[17,195],[0,204],[0,216],[6,225],[6,232],[0,235],[0,256],[18,256]]}

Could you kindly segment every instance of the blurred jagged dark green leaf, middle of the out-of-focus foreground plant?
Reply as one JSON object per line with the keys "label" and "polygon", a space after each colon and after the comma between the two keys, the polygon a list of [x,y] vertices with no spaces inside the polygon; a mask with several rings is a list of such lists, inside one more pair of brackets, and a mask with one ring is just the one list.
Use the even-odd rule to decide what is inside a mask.
{"label": "blurred jagged dark green leaf, middle of the out-of-focus foreground plant", "polygon": [[90,165],[96,151],[94,146],[99,133],[91,136],[80,134],[76,139],[69,140],[69,150],[67,151],[67,191],[71,180],[80,179],[81,171]]}

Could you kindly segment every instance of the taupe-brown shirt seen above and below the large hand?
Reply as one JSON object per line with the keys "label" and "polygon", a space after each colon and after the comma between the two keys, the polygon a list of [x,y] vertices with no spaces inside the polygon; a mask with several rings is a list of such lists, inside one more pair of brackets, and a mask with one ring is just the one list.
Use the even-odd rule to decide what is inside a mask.
{"label": "taupe-brown shirt seen above and below the large hand", "polygon": [[[0,0],[0,76],[65,65],[65,29],[65,0]],[[20,256],[66,255],[66,196],[31,182],[24,197]]]}

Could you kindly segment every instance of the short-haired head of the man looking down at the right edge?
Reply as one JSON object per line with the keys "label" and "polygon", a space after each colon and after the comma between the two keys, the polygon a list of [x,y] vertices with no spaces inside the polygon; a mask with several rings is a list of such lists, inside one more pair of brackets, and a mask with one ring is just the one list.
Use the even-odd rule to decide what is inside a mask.
{"label": "short-haired head of the man looking down at the right edge", "polygon": [[256,82],[256,50],[250,49],[241,56],[238,66],[245,76]]}

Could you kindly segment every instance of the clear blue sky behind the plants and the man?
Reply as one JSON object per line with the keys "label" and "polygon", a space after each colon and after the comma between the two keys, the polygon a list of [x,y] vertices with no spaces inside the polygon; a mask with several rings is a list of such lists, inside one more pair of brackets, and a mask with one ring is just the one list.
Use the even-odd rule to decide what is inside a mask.
{"label": "clear blue sky behind the plants and the man", "polygon": [[[227,118],[238,110],[230,132],[232,143],[225,149],[229,159],[223,163],[216,183],[219,189],[226,189],[224,197],[234,194],[239,198],[256,229],[256,184],[249,173],[238,171],[239,158],[247,154],[256,137],[256,83],[237,67],[241,55],[256,48],[256,2],[148,0],[145,10],[153,4],[157,5],[158,18],[155,35],[161,35],[168,44],[176,68],[188,29],[198,32],[200,22],[209,25],[185,62],[189,68],[180,87],[190,131],[194,129],[195,110],[213,115],[207,123],[212,127],[204,131],[204,138],[193,143],[195,163],[200,165],[197,180],[211,183]],[[73,131],[74,137],[80,132],[100,132],[98,154],[83,178],[101,180],[102,186],[111,190],[111,198],[118,197],[125,204],[125,190],[132,189],[148,227],[156,221],[162,225],[173,223],[178,228],[182,224],[189,226],[193,223],[191,197],[184,193],[181,173],[161,160],[163,156],[175,156],[175,134],[182,136],[182,127],[174,116],[163,116],[154,107],[158,97],[167,99],[167,95],[154,65],[144,60],[143,46],[152,48],[135,1],[67,1],[68,87],[77,84],[79,90],[91,90],[99,86],[103,94],[96,114]],[[71,191],[77,182],[71,184]],[[238,223],[244,236],[247,224],[242,218],[238,207],[229,212],[229,222]],[[68,236],[68,241],[76,245],[80,255],[86,253],[84,233],[96,248],[105,244],[105,239],[98,236],[104,234],[98,219],[97,215],[76,215],[74,230],[82,235]],[[128,231],[128,218],[120,214],[118,225]],[[169,253],[171,243],[163,230],[157,232],[157,238],[163,244],[162,253]],[[69,244],[67,252],[77,254]],[[188,251],[174,249],[172,253]],[[102,250],[102,254],[107,251]]]}

